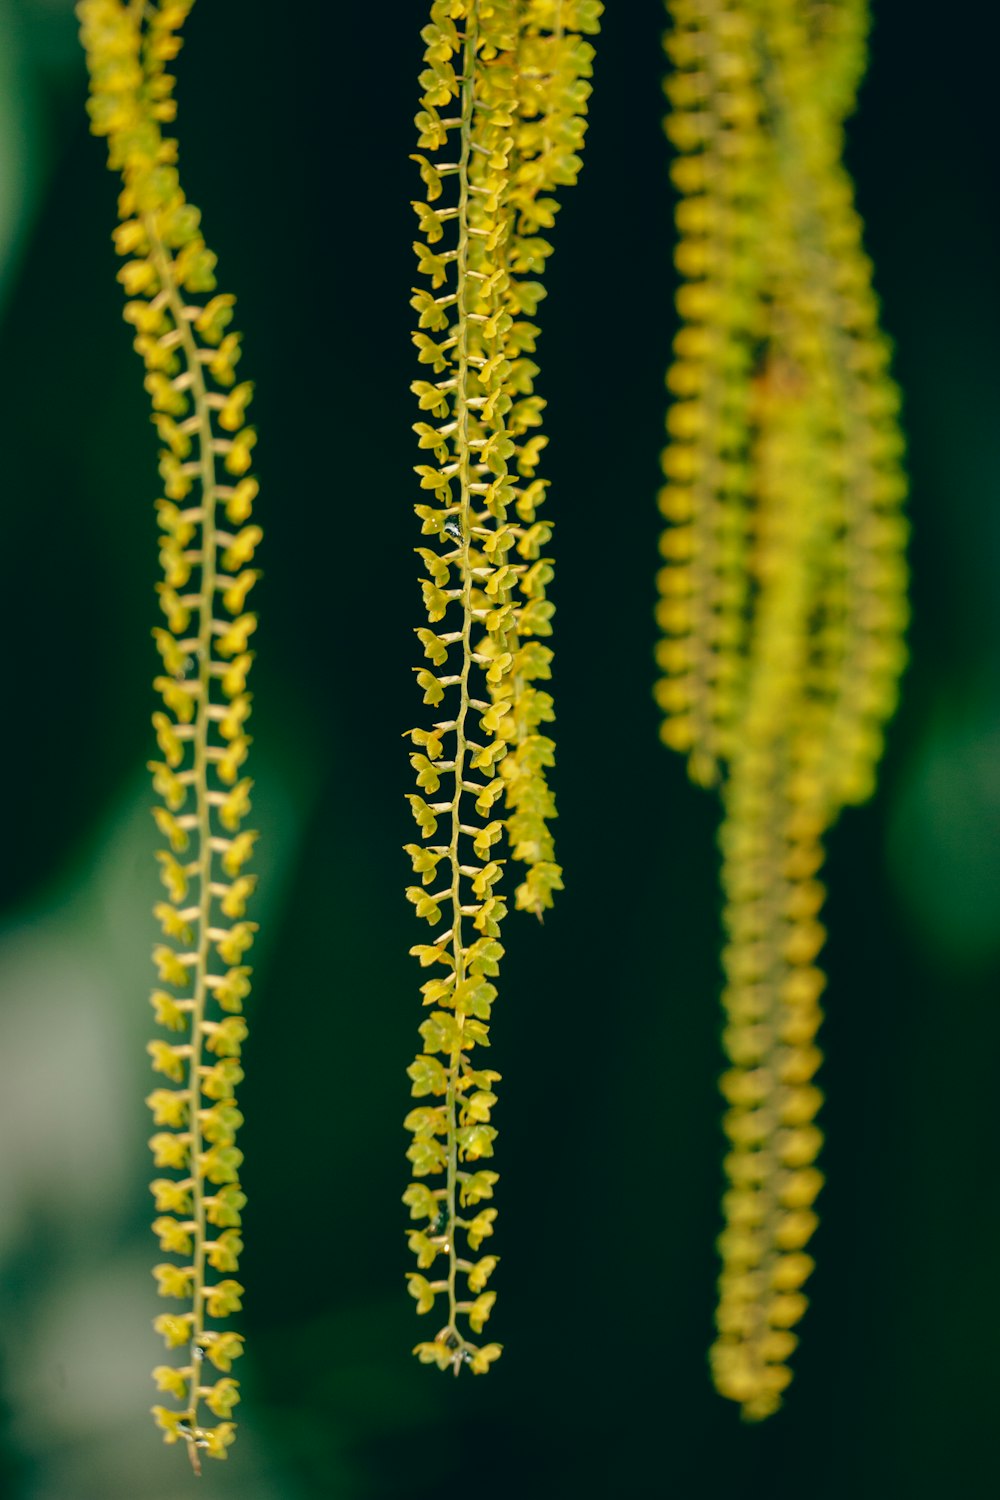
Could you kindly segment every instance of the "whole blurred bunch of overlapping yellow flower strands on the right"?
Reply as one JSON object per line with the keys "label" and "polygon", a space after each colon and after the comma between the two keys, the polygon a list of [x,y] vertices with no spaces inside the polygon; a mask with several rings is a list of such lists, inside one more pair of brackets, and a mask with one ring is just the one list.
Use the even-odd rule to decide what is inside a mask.
{"label": "whole blurred bunch of overlapping yellow flower strands on the right", "polygon": [[805,1308],[822,837],[906,662],[898,396],[843,122],[864,0],[669,0],[681,328],[660,504],[663,738],[721,778],[732,1070],[718,1389],[775,1410]]}

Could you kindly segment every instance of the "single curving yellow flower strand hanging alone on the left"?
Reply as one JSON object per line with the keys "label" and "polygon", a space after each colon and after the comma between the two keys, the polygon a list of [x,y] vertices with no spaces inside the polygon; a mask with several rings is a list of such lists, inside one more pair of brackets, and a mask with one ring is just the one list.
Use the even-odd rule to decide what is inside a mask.
{"label": "single curving yellow flower strand hanging alone on the left", "polygon": [[[180,50],[178,27],[193,0],[129,6],[81,0],[76,14],[90,69],[90,118],[108,138],[121,174],[114,238],[126,256],[118,272],[124,316],[145,364],[145,388],[159,434],[163,498],[157,501],[165,627],[153,632],[162,658],[153,716],[160,759],[150,764],[160,804],[153,808],[169,844],[157,858],[168,900],[156,906],[163,942],[153,958],[160,987],[156,1020],[178,1040],[150,1042],[153,1068],[171,1084],[147,1102],[157,1134],[150,1146],[154,1232],[177,1260],[154,1268],[162,1296],[186,1304],[156,1320],[180,1366],[154,1378],[177,1407],[153,1408],[165,1440],[225,1458],[240,1400],[231,1377],[238,1334],[220,1326],[240,1310],[238,1185],[241,1114],[234,1090],[243,1074],[244,963],[256,922],[246,920],[255,878],[243,873],[255,832],[241,824],[252,782],[243,777],[250,740],[246,692],[256,616],[246,598],[256,580],[261,530],[250,520],[256,482],[247,474],[255,442],[244,423],[252,396],[237,384],[240,336],[229,328],[234,298],[216,292],[214,255],[199,231],[177,174],[177,144],[162,135],[172,120],[174,81],[166,64]],[[213,1278],[214,1274],[214,1278]],[[207,1377],[207,1365],[219,1378]],[[216,1424],[202,1420],[207,1407]]]}

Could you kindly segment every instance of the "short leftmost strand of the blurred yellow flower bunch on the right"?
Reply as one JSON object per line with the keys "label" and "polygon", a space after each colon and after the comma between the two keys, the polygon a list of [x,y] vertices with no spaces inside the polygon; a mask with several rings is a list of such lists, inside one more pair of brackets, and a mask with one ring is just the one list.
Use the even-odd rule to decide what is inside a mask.
{"label": "short leftmost strand of the blurred yellow flower bunch on the right", "polygon": [[733,746],[747,651],[750,376],[759,322],[765,135],[760,62],[726,0],[672,8],[666,129],[678,156],[681,327],[667,372],[657,698],[693,780]]}

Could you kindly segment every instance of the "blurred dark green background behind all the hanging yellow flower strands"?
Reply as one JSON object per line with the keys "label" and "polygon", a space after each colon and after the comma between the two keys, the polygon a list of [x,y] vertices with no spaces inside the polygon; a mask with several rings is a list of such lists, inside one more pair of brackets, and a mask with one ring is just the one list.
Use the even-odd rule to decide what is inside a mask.
{"label": "blurred dark green background behind all the hanging yellow flower strands", "polygon": [[[819,1269],[796,1378],[760,1428],[714,1395],[705,1358],[721,1186],[717,807],[658,744],[651,699],[675,327],[657,0],[609,6],[586,166],[541,314],[567,890],[544,928],[513,914],[504,934],[489,1248],[502,1257],[490,1335],[507,1348],[483,1380],[409,1356],[429,1336],[405,1292],[399,1202],[420,982],[406,950],[421,940],[399,846],[412,837],[400,734],[421,714],[408,390],[408,200],[421,189],[408,153],[424,20],[402,0],[202,0],[180,62],[183,176],[220,286],[238,294],[267,532],[252,726],[264,932],[241,1092],[246,1425],[201,1494],[991,1496],[1000,279],[982,14],[880,0],[850,128],[906,398],[913,663],[879,795],[829,840]],[[39,1014],[4,956],[43,963],[72,932],[102,1017],[87,1071],[90,1011],[69,963],[42,1044],[21,1054],[24,1026],[0,1024],[0,1078],[42,1116],[51,1100],[64,1120],[54,1154],[69,1160],[118,1078],[106,1136],[67,1168],[72,1191],[52,1185],[51,1152],[52,1182],[18,1168],[28,1124],[0,1116],[0,1184],[13,1184],[0,1197],[0,1491],[172,1500],[190,1490],[184,1458],[145,1418],[162,1358],[147,1332],[159,1308],[141,1104],[156,440],[69,8],[4,0],[0,22],[27,164],[0,322],[0,1014]],[[117,872],[111,904],[94,896],[97,867]],[[73,1026],[78,1066],[52,1071]],[[49,1347],[58,1358],[39,1353]],[[87,1416],[88,1388],[111,1389],[129,1365],[118,1404]]]}

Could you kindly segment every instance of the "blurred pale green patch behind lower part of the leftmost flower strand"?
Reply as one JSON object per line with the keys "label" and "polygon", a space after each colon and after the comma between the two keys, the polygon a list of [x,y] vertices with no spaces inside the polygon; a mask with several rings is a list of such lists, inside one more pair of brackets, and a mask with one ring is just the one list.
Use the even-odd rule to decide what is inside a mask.
{"label": "blurred pale green patch behind lower part of the leftmost flower strand", "polygon": [[[301,766],[291,777],[258,764],[261,972],[313,784]],[[39,1497],[183,1492],[175,1455],[150,1444],[144,1400],[159,1358],[144,1216],[150,1024],[136,1004],[148,975],[135,940],[153,933],[159,888],[148,806],[136,777],[40,902],[0,932],[3,1395],[7,1440],[36,1470],[27,1494]],[[229,1466],[211,1492],[295,1500],[252,1412],[241,1436],[255,1478]]]}

